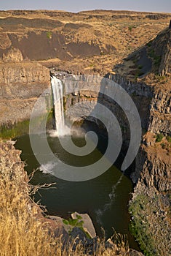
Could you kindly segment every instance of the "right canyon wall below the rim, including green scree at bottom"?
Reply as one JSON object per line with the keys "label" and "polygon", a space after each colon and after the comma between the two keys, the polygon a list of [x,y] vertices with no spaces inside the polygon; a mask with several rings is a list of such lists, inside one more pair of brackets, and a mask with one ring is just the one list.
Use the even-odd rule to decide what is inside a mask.
{"label": "right canyon wall below the rim, including green scree at bottom", "polygon": [[[135,184],[129,211],[130,228],[145,255],[170,255],[171,116],[170,79],[151,86],[109,75],[122,84],[140,108],[143,138],[130,178]],[[135,94],[135,95],[134,95]],[[138,98],[142,102],[137,103]],[[146,102],[146,103],[145,103]],[[141,111],[145,103],[145,111]]]}

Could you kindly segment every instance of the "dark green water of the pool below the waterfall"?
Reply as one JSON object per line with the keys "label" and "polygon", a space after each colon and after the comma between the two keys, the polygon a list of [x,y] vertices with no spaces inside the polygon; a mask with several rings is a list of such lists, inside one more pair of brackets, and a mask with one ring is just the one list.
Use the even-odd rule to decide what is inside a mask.
{"label": "dark green water of the pool below the waterfall", "polygon": [[[41,145],[41,135],[38,136]],[[58,138],[48,137],[47,140],[60,160],[75,166],[90,165],[97,161],[102,157],[101,152],[105,151],[107,146],[107,141],[100,138],[98,149],[96,148],[92,154],[86,157],[75,157],[63,150]],[[83,146],[84,139],[74,138],[74,143],[77,146]],[[102,227],[106,238],[112,236],[116,230],[117,233],[127,234],[130,246],[138,249],[135,239],[129,232],[130,215],[127,210],[132,182],[119,169],[113,165],[106,173],[90,181],[63,181],[39,170],[39,162],[31,150],[29,135],[17,138],[15,148],[22,150],[21,158],[26,162],[25,170],[28,173],[38,169],[31,181],[32,184],[56,182],[54,189],[40,189],[34,197],[36,201],[40,201],[41,205],[46,206],[47,214],[67,219],[73,211],[87,213],[92,218],[98,236],[102,234]]]}

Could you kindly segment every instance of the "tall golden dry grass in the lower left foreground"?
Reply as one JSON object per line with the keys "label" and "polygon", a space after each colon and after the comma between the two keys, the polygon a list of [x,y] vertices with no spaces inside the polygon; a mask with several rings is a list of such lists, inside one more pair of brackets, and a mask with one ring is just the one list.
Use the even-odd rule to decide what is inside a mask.
{"label": "tall golden dry grass in the lower left foreground", "polygon": [[[0,142],[0,255],[87,255],[81,242],[70,240],[64,246],[62,235],[54,235],[40,207],[31,201],[33,187],[28,186],[19,154],[11,144],[2,146]],[[99,241],[92,255],[129,255],[127,244],[120,238],[117,245],[112,244],[108,249],[105,241]]]}

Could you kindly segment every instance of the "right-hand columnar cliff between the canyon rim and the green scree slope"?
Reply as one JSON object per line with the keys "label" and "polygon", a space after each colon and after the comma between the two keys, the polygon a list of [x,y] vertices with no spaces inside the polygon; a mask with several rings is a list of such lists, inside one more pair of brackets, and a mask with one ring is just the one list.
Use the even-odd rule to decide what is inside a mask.
{"label": "right-hand columnar cliff between the canyon rim and the green scree slope", "polygon": [[[146,83],[130,82],[119,75],[108,77],[132,94],[140,114],[142,128],[147,132],[135,159],[132,181],[135,184],[140,181],[148,187],[155,187],[158,191],[168,191],[171,189],[170,144],[164,138],[157,143],[156,134],[162,133],[167,136],[171,133],[170,90],[148,86]],[[141,100],[137,103],[138,97]],[[143,104],[146,108],[142,114]]]}

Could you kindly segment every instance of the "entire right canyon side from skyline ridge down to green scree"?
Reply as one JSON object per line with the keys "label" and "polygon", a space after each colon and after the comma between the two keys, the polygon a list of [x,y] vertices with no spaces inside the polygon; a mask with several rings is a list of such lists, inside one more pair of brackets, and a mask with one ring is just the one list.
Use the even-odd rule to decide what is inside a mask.
{"label": "entire right canyon side from skyline ridge down to green scree", "polygon": [[[132,53],[130,59],[125,59],[124,64],[115,69],[120,75],[111,75],[114,81],[121,80],[128,93],[133,91],[136,94],[136,97],[132,97],[135,104],[138,95],[143,95],[138,110],[142,127],[146,129],[143,131],[143,139],[135,159],[135,170],[131,173],[135,189],[130,201],[130,214],[132,232],[146,255],[170,255],[170,35],[170,29],[165,29],[146,45],[146,53],[152,65],[143,77],[140,78],[143,68],[138,70],[135,65],[141,61],[146,66],[146,61],[143,63],[140,54],[142,49]],[[148,101],[143,118],[140,110],[145,97]],[[168,202],[167,206],[164,206],[164,201]]]}

